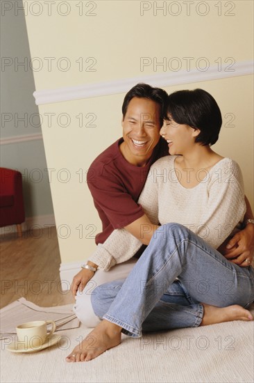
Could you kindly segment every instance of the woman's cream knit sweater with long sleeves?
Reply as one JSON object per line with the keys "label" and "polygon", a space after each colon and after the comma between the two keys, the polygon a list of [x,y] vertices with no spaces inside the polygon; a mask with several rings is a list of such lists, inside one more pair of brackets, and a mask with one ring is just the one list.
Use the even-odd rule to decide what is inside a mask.
{"label": "woman's cream knit sweater with long sleeves", "polygon": [[[235,161],[223,158],[209,172],[203,169],[197,173],[201,182],[187,189],[178,180],[175,158],[162,157],[151,166],[138,203],[153,224],[182,224],[217,249],[244,219],[246,204],[241,170]],[[147,229],[141,227],[141,233]],[[141,246],[142,242],[127,230],[117,229],[97,246],[89,260],[108,271],[133,257]]]}

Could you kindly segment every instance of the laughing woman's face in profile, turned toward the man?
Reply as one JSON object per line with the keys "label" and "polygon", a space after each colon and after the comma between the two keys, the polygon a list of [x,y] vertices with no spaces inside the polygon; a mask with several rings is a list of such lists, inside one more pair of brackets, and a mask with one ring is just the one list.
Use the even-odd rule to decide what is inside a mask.
{"label": "laughing woman's face in profile, turned toward the man", "polygon": [[200,130],[189,127],[189,125],[178,124],[169,114],[168,119],[160,130],[160,135],[169,145],[171,155],[185,155],[195,145],[195,138]]}

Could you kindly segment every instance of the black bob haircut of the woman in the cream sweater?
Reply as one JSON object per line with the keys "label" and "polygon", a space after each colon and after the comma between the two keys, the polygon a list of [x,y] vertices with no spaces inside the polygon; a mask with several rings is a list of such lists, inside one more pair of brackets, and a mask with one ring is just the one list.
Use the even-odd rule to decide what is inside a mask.
{"label": "black bob haircut of the woman in the cream sweater", "polygon": [[169,117],[178,124],[199,129],[195,142],[203,146],[213,145],[219,137],[221,111],[214,97],[203,89],[171,93],[164,107],[164,119]]}

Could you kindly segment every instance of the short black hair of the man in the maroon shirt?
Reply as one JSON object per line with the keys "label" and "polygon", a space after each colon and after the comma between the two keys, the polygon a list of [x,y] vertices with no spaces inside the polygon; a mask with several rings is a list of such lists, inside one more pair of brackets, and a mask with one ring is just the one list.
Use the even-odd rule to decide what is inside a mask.
{"label": "short black hair of the man in the maroon shirt", "polygon": [[126,111],[128,109],[128,104],[130,100],[133,99],[133,97],[139,97],[139,98],[148,98],[149,100],[152,100],[154,102],[157,102],[157,104],[160,105],[160,127],[163,125],[163,115],[164,115],[164,103],[167,101],[168,94],[166,91],[160,88],[153,88],[153,86],[150,86],[149,84],[139,83],[126,93],[126,96],[124,97],[124,102],[121,107],[121,111],[123,113],[123,118],[126,115]]}

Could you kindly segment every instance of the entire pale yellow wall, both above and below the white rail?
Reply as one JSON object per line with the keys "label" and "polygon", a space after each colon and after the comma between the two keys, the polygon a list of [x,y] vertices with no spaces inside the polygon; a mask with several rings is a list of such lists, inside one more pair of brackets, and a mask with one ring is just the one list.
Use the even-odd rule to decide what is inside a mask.
{"label": "entire pale yellow wall, both above and below the white rail", "polygon": [[[167,15],[158,10],[157,16],[153,15],[153,3],[156,3],[153,1],[83,1],[83,16],[78,15],[78,3],[80,1],[69,1],[70,13],[65,17],[59,15],[53,6],[51,16],[47,15],[46,9],[37,17],[28,10],[26,23],[31,56],[39,57],[43,63],[42,69],[34,72],[37,91],[153,75],[165,69],[162,65],[155,68],[149,65],[142,71],[142,57],[150,58],[152,63],[164,58],[167,72],[175,69],[170,66],[176,64],[176,61],[171,61],[173,57],[178,58],[182,70],[187,69],[187,61],[183,59],[185,57],[194,57],[191,61],[192,69],[201,57],[206,58],[210,67],[219,65],[220,61],[229,65],[234,61],[253,59],[252,1],[195,1],[192,6],[189,4],[189,15],[183,1],[167,1]],[[208,15],[198,15],[198,12],[205,13],[205,5],[202,3],[208,4]],[[92,10],[94,4],[96,9]],[[163,1],[157,2],[158,6],[162,4]],[[180,10],[179,4],[182,7],[181,13],[178,16],[170,15],[169,10],[171,13]],[[221,4],[221,16],[215,4]],[[152,8],[144,11],[142,16],[142,6]],[[172,8],[168,8],[170,6]],[[235,9],[232,9],[233,6]],[[61,11],[64,12],[65,8]],[[96,15],[85,15],[89,12]],[[56,57],[52,61],[52,70],[49,70],[45,57]],[[67,72],[62,72],[59,65],[56,65],[57,61],[64,65],[64,61],[59,61],[62,57],[67,57],[71,63]],[[89,59],[85,63],[86,58],[96,59],[92,68],[94,72],[85,71],[85,66],[83,71],[79,71],[76,61],[81,57],[86,67],[95,62]],[[204,63],[199,62],[201,66]],[[219,143],[214,149],[239,163],[244,173],[246,195],[253,204],[253,76],[183,84],[165,89],[170,93],[196,87],[212,93],[221,107],[224,122]],[[123,98],[124,94],[110,95],[39,107],[47,167],[56,169],[51,173],[51,192],[56,224],[58,228],[62,227],[58,232],[62,263],[85,259],[94,249],[90,233],[98,233],[101,224],[85,183],[85,171],[96,155],[121,136]],[[49,113],[55,114],[52,116],[51,127],[46,115]],[[62,113],[69,115],[70,123],[67,127],[60,126],[65,124]],[[81,114],[82,127],[76,117]],[[89,126],[93,118],[90,125],[95,127]],[[67,169],[67,172],[61,169]],[[83,169],[82,173],[79,169]],[[65,182],[69,176],[70,180]],[[69,237],[64,238],[65,235]]]}

